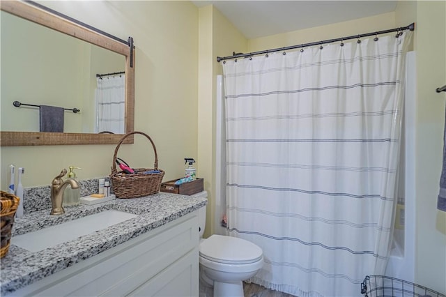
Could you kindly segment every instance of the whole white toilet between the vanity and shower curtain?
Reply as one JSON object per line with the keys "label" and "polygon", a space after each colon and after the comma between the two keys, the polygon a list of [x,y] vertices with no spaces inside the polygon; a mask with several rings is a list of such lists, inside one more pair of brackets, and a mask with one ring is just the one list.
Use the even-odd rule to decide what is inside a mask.
{"label": "whole white toilet between the vanity and shower curtain", "polygon": [[[196,195],[206,195],[203,191]],[[214,234],[203,239],[206,207],[199,209],[200,280],[214,288],[214,297],[243,297],[243,280],[256,275],[263,266],[263,251],[242,238]]]}

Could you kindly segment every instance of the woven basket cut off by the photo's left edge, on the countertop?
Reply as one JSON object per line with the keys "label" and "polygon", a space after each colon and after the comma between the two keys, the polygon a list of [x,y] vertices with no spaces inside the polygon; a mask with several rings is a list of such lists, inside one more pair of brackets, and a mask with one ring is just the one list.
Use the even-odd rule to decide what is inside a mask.
{"label": "woven basket cut off by the photo's left edge, on the countertop", "polygon": [[11,231],[13,230],[14,215],[19,206],[20,198],[9,194],[8,192],[0,191],[1,194],[1,230],[0,230],[0,258],[6,255],[9,250]]}

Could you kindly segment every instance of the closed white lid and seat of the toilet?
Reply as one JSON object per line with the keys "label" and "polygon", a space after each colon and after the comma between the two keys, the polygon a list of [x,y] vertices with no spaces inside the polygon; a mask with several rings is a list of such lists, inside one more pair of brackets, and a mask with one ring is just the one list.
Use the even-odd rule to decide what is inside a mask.
{"label": "closed white lid and seat of the toilet", "polygon": [[263,259],[254,243],[242,238],[214,234],[200,243],[200,257],[221,264],[253,264]]}

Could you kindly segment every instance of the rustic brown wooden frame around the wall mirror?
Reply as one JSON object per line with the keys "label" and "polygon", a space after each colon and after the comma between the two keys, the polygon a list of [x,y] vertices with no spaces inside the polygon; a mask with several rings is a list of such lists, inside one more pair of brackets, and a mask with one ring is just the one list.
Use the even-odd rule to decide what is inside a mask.
{"label": "rustic brown wooden frame around the wall mirror", "polygon": [[[134,47],[130,51],[127,43],[119,42],[107,36],[107,33],[98,33],[98,30],[72,22],[63,15],[53,14],[46,9],[38,8],[32,3],[22,1],[1,1],[0,9],[10,15],[21,17],[24,20],[45,26],[84,40],[92,45],[120,54],[125,59],[125,133],[134,130]],[[113,37],[113,36],[112,36]],[[49,41],[51,42],[51,41]],[[5,45],[3,45],[5,46]],[[2,96],[3,97],[3,96]],[[12,98],[1,98],[12,104]],[[10,101],[10,103],[9,103]],[[3,102],[3,101],[2,101]],[[81,109],[82,112],[82,109]],[[123,143],[133,143],[133,135],[126,137]],[[41,145],[71,145],[71,144],[118,144],[123,134],[110,133],[82,133],[82,132],[21,132],[0,131],[0,146],[41,146]]]}

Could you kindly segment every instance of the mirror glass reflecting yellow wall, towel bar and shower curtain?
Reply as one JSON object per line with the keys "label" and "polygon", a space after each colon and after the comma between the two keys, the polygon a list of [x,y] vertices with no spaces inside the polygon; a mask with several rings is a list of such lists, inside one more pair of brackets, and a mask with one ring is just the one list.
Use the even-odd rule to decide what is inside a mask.
{"label": "mirror glass reflecting yellow wall, towel bar and shower curtain", "polygon": [[62,132],[41,130],[29,104],[80,109],[42,114],[50,125],[62,116],[63,132],[125,133],[125,56],[4,11],[0,20],[1,131]]}

